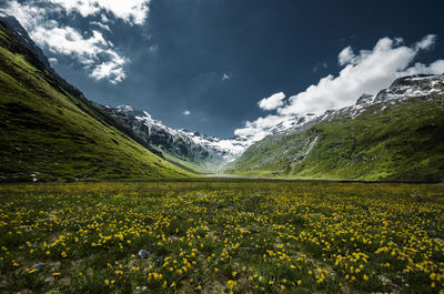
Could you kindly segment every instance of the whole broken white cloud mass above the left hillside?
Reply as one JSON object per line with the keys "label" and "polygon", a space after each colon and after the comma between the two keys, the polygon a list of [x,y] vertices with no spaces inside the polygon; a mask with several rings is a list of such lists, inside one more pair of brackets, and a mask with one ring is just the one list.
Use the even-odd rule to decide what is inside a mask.
{"label": "whole broken white cloud mass above the left hillside", "polygon": [[[143,24],[151,0],[11,0],[0,8],[14,16],[40,47],[56,57],[77,61],[95,80],[119,83],[127,77],[129,59],[121,55],[113,43],[100,32],[112,33],[110,17],[130,26]],[[78,13],[95,26],[87,32],[61,24],[53,19]],[[57,18],[56,18],[57,19]]]}

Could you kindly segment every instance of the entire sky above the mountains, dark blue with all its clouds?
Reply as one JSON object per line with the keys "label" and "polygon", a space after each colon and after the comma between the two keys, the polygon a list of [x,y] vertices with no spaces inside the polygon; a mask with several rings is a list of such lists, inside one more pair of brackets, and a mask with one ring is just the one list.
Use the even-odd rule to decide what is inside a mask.
{"label": "entire sky above the mountains, dark blue with all its clouds", "polygon": [[394,79],[444,73],[442,0],[0,0],[89,100],[261,138]]}

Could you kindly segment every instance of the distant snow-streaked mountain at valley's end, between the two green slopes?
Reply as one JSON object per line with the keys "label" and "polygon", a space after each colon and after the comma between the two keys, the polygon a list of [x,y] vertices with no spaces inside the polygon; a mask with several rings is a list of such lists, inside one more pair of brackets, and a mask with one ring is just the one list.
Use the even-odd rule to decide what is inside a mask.
{"label": "distant snow-streaked mountain at valley's end, between the two green slopes", "polygon": [[252,143],[240,136],[224,140],[173,129],[152,119],[147,111],[134,110],[130,105],[98,107],[131,129],[144,142],[175,158],[213,171],[239,158]]}

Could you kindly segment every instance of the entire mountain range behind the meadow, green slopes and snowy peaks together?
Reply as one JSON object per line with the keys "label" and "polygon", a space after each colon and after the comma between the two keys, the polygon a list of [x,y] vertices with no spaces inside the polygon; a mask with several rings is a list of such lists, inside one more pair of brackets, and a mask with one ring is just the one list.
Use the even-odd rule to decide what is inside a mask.
{"label": "entire mountain range behind the meadow, green slopes and snowy peaks together", "polygon": [[[183,176],[210,171],[327,180],[443,181],[444,75],[401,77],[375,95],[260,135],[173,129],[68,83],[0,11],[0,181]],[[60,136],[60,138],[58,138]],[[198,168],[200,166],[200,168]]]}

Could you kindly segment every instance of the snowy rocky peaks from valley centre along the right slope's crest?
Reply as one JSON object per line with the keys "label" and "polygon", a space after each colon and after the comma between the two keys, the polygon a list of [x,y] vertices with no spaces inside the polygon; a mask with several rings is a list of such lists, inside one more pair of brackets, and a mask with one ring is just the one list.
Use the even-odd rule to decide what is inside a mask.
{"label": "snowy rocky peaks from valley centre along the right slope's crest", "polygon": [[357,99],[355,105],[329,110],[321,115],[309,113],[289,118],[266,130],[262,136],[233,136],[231,139],[220,139],[199,132],[170,128],[161,121],[154,120],[147,111],[134,110],[130,105],[117,108],[107,105],[102,109],[127,128],[133,130],[147,143],[203,168],[218,170],[240,158],[250,145],[268,135],[285,135],[305,130],[315,123],[329,122],[337,118],[354,119],[370,105],[377,103],[398,103],[403,99],[443,92],[443,75],[404,77],[395,80],[389,89],[381,90],[376,95],[363,94]]}

